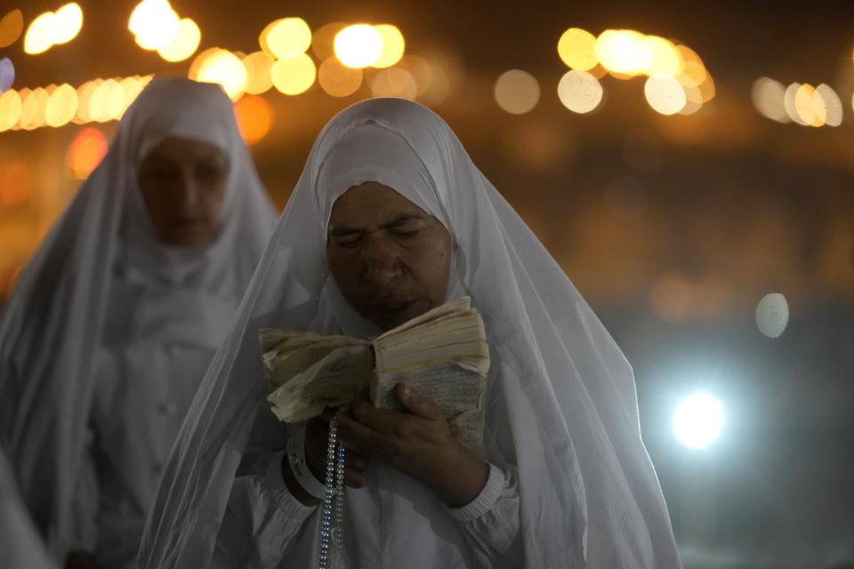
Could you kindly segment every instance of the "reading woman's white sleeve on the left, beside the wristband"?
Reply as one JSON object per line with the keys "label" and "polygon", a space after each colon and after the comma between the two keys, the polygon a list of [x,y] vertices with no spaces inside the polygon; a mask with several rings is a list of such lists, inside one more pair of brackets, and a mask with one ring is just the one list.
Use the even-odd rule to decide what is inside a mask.
{"label": "reading woman's white sleeve on the left, beside the wristband", "polygon": [[[214,550],[216,568],[271,569],[281,564],[317,506],[290,493],[282,476],[285,452],[271,453],[258,474],[235,478]],[[262,466],[262,465],[259,465]]]}

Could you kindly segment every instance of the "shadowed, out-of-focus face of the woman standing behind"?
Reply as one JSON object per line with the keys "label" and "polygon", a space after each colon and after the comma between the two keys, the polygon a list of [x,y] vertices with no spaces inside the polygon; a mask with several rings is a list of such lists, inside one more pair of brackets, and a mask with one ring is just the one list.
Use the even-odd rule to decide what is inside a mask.
{"label": "shadowed, out-of-focus face of the woman standing behind", "polygon": [[157,236],[191,247],[216,236],[229,174],[222,151],[205,142],[169,138],[142,160],[139,183]]}

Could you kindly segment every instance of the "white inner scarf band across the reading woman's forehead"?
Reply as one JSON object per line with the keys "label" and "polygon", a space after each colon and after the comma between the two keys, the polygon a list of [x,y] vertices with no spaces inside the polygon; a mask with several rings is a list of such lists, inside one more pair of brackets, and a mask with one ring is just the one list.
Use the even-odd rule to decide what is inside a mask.
{"label": "white inner scarf band across the reading woman's forehead", "polygon": [[348,132],[320,164],[316,183],[320,227],[326,231],[335,200],[348,189],[372,181],[394,189],[453,235],[446,208],[422,158],[397,132],[375,123]]}

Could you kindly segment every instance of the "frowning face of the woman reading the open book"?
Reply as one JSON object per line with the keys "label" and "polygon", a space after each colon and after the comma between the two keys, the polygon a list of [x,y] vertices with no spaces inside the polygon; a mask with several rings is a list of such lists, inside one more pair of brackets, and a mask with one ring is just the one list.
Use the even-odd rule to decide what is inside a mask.
{"label": "frowning face of the woman reading the open book", "polygon": [[391,330],[445,300],[451,238],[406,197],[367,182],[335,201],[326,260],[350,306]]}

